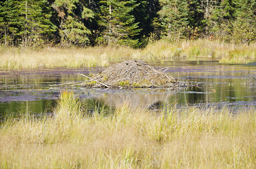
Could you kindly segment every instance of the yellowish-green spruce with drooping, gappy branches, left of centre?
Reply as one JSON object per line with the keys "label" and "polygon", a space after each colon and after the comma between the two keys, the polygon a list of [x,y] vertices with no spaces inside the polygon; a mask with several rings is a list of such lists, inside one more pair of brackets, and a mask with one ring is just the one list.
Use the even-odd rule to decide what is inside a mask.
{"label": "yellowish-green spruce with drooping, gappy branches, left of centre", "polygon": [[86,28],[85,21],[94,18],[94,12],[88,2],[78,0],[56,0],[53,4],[58,12],[59,34],[62,45],[88,45],[92,32]]}

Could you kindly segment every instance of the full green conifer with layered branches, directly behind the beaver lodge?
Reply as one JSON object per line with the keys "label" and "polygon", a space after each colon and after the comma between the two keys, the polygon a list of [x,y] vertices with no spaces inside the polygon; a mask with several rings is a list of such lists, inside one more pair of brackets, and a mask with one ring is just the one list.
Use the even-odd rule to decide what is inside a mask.
{"label": "full green conifer with layered branches, directly behind the beaver lodge", "polygon": [[98,43],[137,47],[136,35],[141,29],[132,15],[134,8],[138,6],[136,1],[101,1],[100,5],[98,24],[101,26],[102,34],[97,39]]}

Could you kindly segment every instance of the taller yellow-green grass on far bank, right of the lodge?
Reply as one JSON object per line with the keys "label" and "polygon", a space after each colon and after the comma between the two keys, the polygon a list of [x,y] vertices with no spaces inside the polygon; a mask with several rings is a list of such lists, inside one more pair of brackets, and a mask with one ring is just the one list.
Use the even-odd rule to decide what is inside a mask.
{"label": "taller yellow-green grass on far bank, right of the lodge", "polygon": [[[181,48],[181,51],[177,50],[178,48]],[[175,44],[157,41],[147,45],[144,53],[147,52],[160,58],[186,57],[189,60],[217,59],[220,63],[249,63],[256,60],[256,43],[236,45],[207,39]]]}

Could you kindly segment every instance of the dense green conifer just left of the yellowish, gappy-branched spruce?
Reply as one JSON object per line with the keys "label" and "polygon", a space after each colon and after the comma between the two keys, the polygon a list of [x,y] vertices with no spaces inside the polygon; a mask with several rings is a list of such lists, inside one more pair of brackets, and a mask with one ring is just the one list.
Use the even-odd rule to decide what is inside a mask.
{"label": "dense green conifer just left of the yellowish, gappy-branched spruce", "polygon": [[23,46],[40,46],[51,38],[57,30],[50,21],[51,9],[47,0],[19,1],[21,36]]}

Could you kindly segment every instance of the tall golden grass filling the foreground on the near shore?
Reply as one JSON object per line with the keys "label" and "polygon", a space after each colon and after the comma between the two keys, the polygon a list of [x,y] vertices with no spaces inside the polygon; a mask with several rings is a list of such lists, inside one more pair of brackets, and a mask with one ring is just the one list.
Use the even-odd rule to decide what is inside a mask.
{"label": "tall golden grass filling the foreground on the near shore", "polygon": [[[7,119],[0,129],[1,168],[255,168],[255,107],[163,112],[131,109],[87,116],[63,92],[53,117]],[[98,109],[99,110],[99,109]]]}

